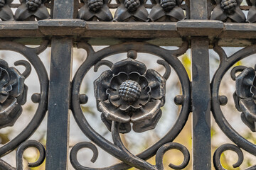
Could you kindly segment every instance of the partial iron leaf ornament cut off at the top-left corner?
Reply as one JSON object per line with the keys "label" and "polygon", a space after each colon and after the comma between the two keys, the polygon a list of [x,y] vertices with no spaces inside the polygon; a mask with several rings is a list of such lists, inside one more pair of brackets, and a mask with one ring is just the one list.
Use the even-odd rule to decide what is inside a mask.
{"label": "partial iron leaf ornament cut off at the top-left corner", "polygon": [[0,18],[2,21],[14,21],[14,14],[10,4],[13,0],[0,0]]}

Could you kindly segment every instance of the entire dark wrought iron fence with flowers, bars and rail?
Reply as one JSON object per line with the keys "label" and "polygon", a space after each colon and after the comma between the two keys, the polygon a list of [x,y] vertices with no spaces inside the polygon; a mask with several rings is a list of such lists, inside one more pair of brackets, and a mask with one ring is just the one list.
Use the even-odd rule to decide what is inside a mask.
{"label": "entire dark wrought iron fence with flowers, bars and rail", "polygon": [[[245,57],[256,53],[256,1],[247,0],[0,0],[0,50],[18,52],[27,61],[14,64],[25,67],[23,73],[0,60],[0,128],[12,126],[22,114],[29,87],[25,79],[31,68],[36,70],[40,92],[31,96],[38,108],[26,128],[13,140],[0,147],[0,156],[16,150],[16,168],[0,159],[0,169],[23,169],[22,155],[28,147],[36,147],[40,157],[29,167],[42,164],[46,169],[97,169],[82,166],[77,159],[82,148],[91,149],[92,162],[101,147],[121,161],[101,169],[164,169],[164,153],[178,149],[183,163],[170,164],[172,169],[184,169],[192,154],[193,169],[223,169],[220,155],[232,150],[239,156],[234,167],[243,161],[241,149],[256,155],[256,145],[239,135],[225,119],[220,106],[228,98],[219,94],[224,74]],[[15,12],[13,12],[15,11]],[[28,47],[26,45],[39,45]],[[109,45],[95,51],[92,45]],[[38,55],[51,47],[50,74]],[[166,50],[161,46],[178,46]],[[243,47],[228,56],[223,47]],[[72,77],[73,47],[86,50],[87,58]],[[192,74],[178,57],[191,48]],[[209,49],[218,53],[220,64],[214,77],[209,76]],[[164,74],[148,69],[137,60],[137,53],[159,57],[157,63],[165,68]],[[127,59],[110,62],[106,57],[126,53]],[[81,104],[87,103],[80,86],[89,69],[95,72],[102,65],[110,67],[95,77],[93,82],[98,117],[112,134],[113,142],[102,137],[90,126]],[[161,118],[161,107],[167,102],[166,80],[171,68],[178,75],[181,94],[174,98],[181,111],[173,128],[151,147],[134,155],[124,147],[120,133],[144,132],[156,127]],[[234,67],[233,95],[235,107],[241,112],[242,122],[255,132],[256,79],[255,68]],[[169,102],[169,101],[168,101]],[[80,130],[91,142],[80,142],[68,152],[70,113]],[[48,112],[47,142],[45,147],[28,140]],[[193,150],[173,142],[193,115]],[[220,146],[211,157],[210,114],[233,144]],[[60,142],[61,141],[61,142]],[[146,162],[156,155],[156,164]],[[70,159],[69,159],[70,157]],[[251,166],[247,169],[256,169]]]}

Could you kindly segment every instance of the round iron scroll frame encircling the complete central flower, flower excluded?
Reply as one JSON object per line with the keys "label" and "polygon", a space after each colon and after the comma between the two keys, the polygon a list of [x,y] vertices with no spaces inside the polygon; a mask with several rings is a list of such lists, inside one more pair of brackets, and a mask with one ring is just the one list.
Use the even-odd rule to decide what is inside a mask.
{"label": "round iron scroll frame encircling the complete central flower, flower excluded", "polygon": [[[110,47],[105,47],[104,49],[95,52],[92,47],[87,44],[86,42],[79,42],[78,48],[83,48],[87,51],[87,59],[85,62],[82,63],[80,68],[78,69],[78,72],[76,72],[75,77],[72,82],[72,104],[71,109],[73,111],[73,115],[75,117],[76,122],[78,123],[80,129],[82,132],[90,139],[92,142],[104,149],[106,152],[112,154],[114,157],[117,157],[117,159],[120,159],[123,163],[115,164],[113,166],[102,168],[102,169],[129,169],[129,167],[134,166],[139,169],[156,169],[155,165],[151,165],[148,162],[146,162],[146,159],[149,159],[150,157],[153,157],[154,154],[156,154],[157,150],[165,145],[166,143],[172,142],[176,136],[181,132],[183,129],[183,126],[186,124],[186,120],[188,119],[189,114],[189,106],[190,106],[190,81],[188,79],[188,75],[186,73],[186,70],[184,69],[181,62],[178,60],[178,56],[183,55],[184,52],[188,49],[188,42],[183,42],[183,45],[178,48],[178,50],[165,50],[164,48],[157,47],[155,45],[149,45],[143,42],[126,42],[120,45],[112,45]],[[82,79],[85,77],[85,74],[95,66],[95,71],[97,71],[98,67],[100,67],[102,64],[107,65],[108,67],[112,68],[112,70],[115,70],[117,67],[113,66],[112,62],[109,62],[107,60],[104,60],[105,57],[115,55],[122,52],[128,52],[127,57],[128,59],[123,62],[134,62],[134,59],[137,57],[137,52],[144,52],[144,53],[150,53],[152,55],[156,55],[158,57],[161,57],[163,60],[159,60],[158,63],[162,64],[166,68],[166,73],[163,77],[168,78],[169,74],[171,73],[171,69],[169,67],[173,67],[176,74],[178,74],[178,79],[181,81],[182,86],[182,93],[183,93],[183,103],[181,103],[181,112],[178,115],[178,118],[176,120],[176,123],[174,124],[173,128],[167,132],[167,134],[159,140],[159,142],[156,142],[154,145],[146,149],[144,152],[133,155],[131,154],[123,145],[122,141],[119,140],[119,130],[124,130],[122,132],[128,132],[127,131],[127,124],[121,125],[115,121],[112,123],[110,122],[110,127],[112,125],[112,138],[114,139],[114,144],[108,140],[106,140],[104,137],[102,137],[100,134],[98,134],[91,126],[90,123],[87,122],[85,115],[82,113],[80,108],[80,86],[82,84]],[[122,65],[122,61],[118,63],[120,66]],[[139,62],[138,62],[139,64]],[[117,64],[116,64],[117,65]],[[121,67],[118,67],[120,69]],[[144,68],[142,66],[142,68]],[[122,68],[121,68],[122,70]],[[113,71],[115,72],[115,71]],[[124,71],[126,72],[126,71]],[[131,71],[132,72],[132,71]],[[125,75],[125,74],[124,74]],[[118,75],[117,75],[118,77]],[[143,76],[140,79],[144,79]],[[136,83],[134,83],[136,84]],[[129,101],[129,98],[127,99]],[[136,107],[136,106],[134,106]],[[125,121],[124,118],[121,118]],[[118,128],[117,128],[118,127]],[[122,129],[124,128],[124,129]],[[137,127],[133,127],[134,130],[141,130],[140,128],[137,129]],[[80,164],[77,162],[76,154],[78,152],[78,148],[82,147],[84,143],[76,145],[75,149],[73,149],[73,152],[70,153],[70,160],[71,163],[75,168],[78,169],[93,169],[88,168],[85,166],[80,166]],[[87,144],[86,146],[87,147]],[[92,147],[89,147],[92,149]],[[94,147],[93,147],[94,148]],[[95,149],[92,149],[92,151],[95,152]],[[126,159],[129,157],[129,159]],[[187,158],[187,157],[186,157]],[[186,159],[187,161],[187,159]],[[185,161],[185,162],[186,162]]]}

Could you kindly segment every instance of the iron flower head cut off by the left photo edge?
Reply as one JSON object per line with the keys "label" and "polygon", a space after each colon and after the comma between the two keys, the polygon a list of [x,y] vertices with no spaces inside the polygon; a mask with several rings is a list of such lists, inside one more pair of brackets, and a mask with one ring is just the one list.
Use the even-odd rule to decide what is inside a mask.
{"label": "iron flower head cut off by the left photo edge", "polygon": [[0,128],[14,125],[26,103],[25,77],[14,67],[0,60]]}

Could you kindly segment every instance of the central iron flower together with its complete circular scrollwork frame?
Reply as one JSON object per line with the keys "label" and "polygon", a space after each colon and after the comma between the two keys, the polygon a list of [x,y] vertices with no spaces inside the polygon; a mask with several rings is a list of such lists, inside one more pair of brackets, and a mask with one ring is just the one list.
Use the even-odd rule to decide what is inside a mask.
{"label": "central iron flower together with its complete circular scrollwork frame", "polygon": [[[122,161],[122,163],[102,169],[129,169],[131,166],[138,169],[164,169],[162,158],[169,149],[178,149],[184,155],[181,165],[170,164],[169,166],[173,169],[186,167],[189,162],[188,149],[172,141],[186,124],[190,111],[190,81],[186,70],[177,58],[186,52],[188,43],[183,42],[178,50],[165,50],[143,42],[112,45],[97,52],[86,42],[79,42],[78,47],[87,50],[87,59],[82,63],[73,79],[71,106],[73,115],[82,132],[95,145]],[[103,60],[105,57],[121,52],[127,52],[126,60],[116,63]],[[165,74],[161,76],[154,69],[146,69],[145,64],[136,60],[137,52],[151,53],[161,57],[163,60],[158,60],[158,63],[166,68]],[[109,142],[91,128],[80,108],[80,104],[87,101],[85,100],[87,97],[79,93],[82,79],[90,68],[94,66],[95,72],[97,72],[101,65],[107,65],[110,69],[95,80],[95,97],[98,111],[102,112],[102,121],[111,131],[114,143]],[[176,103],[182,106],[181,112],[174,127],[159,142],[144,152],[134,155],[124,147],[119,133],[127,133],[132,128],[135,132],[144,132],[155,128],[161,117],[161,106],[164,106],[165,102],[165,84],[171,74],[170,66],[174,68],[181,81],[183,94],[177,98],[182,98],[182,100],[176,100]],[[133,123],[132,128],[130,123]],[[80,142],[73,147],[70,152],[70,162],[75,169],[96,169],[80,165],[77,159],[78,150],[85,147],[92,150],[94,156],[91,161],[95,162],[98,154],[95,145],[90,142]],[[156,165],[145,161],[153,157],[154,154],[157,155]]]}

